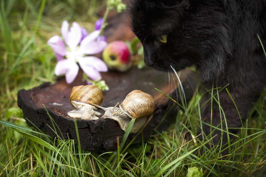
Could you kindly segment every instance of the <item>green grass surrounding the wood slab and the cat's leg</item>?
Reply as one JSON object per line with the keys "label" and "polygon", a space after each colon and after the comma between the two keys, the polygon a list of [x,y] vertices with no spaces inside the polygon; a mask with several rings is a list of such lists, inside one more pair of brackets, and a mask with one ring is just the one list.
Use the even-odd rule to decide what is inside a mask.
{"label": "green grass surrounding the wood slab and the cat's leg", "polygon": [[[103,4],[87,0],[0,2],[0,176],[185,176],[189,167],[202,168],[204,176],[265,174],[265,90],[235,135],[236,141],[231,142],[231,155],[223,158],[206,148],[211,137],[204,136],[202,142],[196,137],[203,124],[197,92],[187,103],[187,112],[179,109],[175,124],[167,131],[139,144],[124,146],[123,140],[113,152],[84,151],[74,140],[52,138],[27,126],[17,108],[17,91],[55,82],[56,58],[47,40],[60,34],[65,19],[92,31],[98,19],[95,12]],[[216,89],[211,92],[217,94]],[[201,149],[203,155],[198,153]]]}

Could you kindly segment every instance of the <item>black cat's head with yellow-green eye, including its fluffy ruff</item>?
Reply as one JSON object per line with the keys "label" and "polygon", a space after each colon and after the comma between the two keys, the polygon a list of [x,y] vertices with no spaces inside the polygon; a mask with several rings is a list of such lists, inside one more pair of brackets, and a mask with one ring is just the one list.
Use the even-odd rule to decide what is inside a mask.
{"label": "black cat's head with yellow-green eye, including its fluffy ruff", "polygon": [[[143,44],[146,65],[162,71],[194,64],[208,72],[223,70],[224,55],[229,53],[226,17],[218,4],[199,2],[133,2],[132,30]],[[215,56],[220,60],[214,61]]]}

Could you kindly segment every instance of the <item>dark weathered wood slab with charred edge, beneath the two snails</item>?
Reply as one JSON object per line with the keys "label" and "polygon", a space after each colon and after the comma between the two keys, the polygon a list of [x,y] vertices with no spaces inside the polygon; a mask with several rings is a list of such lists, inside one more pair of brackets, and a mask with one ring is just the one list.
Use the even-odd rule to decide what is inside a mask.
{"label": "dark weathered wood slab with charred edge, beneath the two snails", "polygon": [[[119,21],[122,20],[120,24],[124,27],[119,27],[119,25],[116,24],[117,21],[113,20],[105,32],[108,42],[113,40],[132,39],[134,34],[128,27],[128,18],[125,14],[119,14],[115,17],[117,17]],[[115,17],[111,18],[110,21],[115,19]],[[191,97],[191,94],[193,94],[190,83],[186,83],[188,73],[189,71],[184,71],[180,77],[187,98]],[[54,133],[54,131],[56,131],[61,138],[74,138],[77,142],[74,119],[69,117],[67,112],[73,109],[69,102],[72,87],[85,85],[85,83],[81,81],[81,78],[82,73],[80,72],[75,81],[71,84],[67,84],[65,78],[61,78],[53,85],[44,83],[39,87],[27,91],[20,90],[18,92],[18,106],[23,110],[27,124],[30,126],[34,124],[34,126],[47,131],[48,134],[53,137],[56,136]],[[134,89],[142,90],[151,94],[156,103],[154,116],[143,129],[143,139],[147,140],[154,132],[154,129],[157,129],[159,132],[166,130],[169,122],[171,122],[171,114],[176,114],[177,112],[177,105],[168,113],[166,119],[163,119],[171,105],[175,103],[156,91],[154,87],[176,99],[177,94],[175,86],[178,85],[177,78],[175,81],[171,79],[172,82],[169,83],[168,73],[155,71],[153,68],[144,68],[142,70],[132,68],[126,73],[108,71],[107,73],[102,73],[102,78],[110,88],[109,91],[103,93],[104,99],[101,104],[102,106],[114,106],[117,102],[121,103],[130,91]],[[53,123],[45,108],[47,108],[49,115],[53,119]],[[102,110],[99,111],[101,112]],[[53,130],[53,124],[56,124],[56,130]],[[121,141],[124,135],[124,131],[120,129],[119,124],[111,119],[77,119],[77,127],[80,145],[83,150],[114,150],[117,147],[117,137],[119,137]],[[136,135],[137,133],[130,134],[127,143]],[[142,137],[140,134],[134,142],[141,141]]]}

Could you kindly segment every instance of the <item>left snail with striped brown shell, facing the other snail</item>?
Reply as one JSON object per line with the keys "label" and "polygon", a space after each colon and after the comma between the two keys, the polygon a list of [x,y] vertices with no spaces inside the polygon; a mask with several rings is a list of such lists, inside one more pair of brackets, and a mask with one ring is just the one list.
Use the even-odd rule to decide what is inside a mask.
{"label": "left snail with striped brown shell, facing the other snail", "polygon": [[74,86],[72,88],[70,97],[70,104],[75,108],[67,114],[76,119],[97,120],[96,115],[101,113],[93,104],[101,104],[103,101],[103,92],[94,85]]}

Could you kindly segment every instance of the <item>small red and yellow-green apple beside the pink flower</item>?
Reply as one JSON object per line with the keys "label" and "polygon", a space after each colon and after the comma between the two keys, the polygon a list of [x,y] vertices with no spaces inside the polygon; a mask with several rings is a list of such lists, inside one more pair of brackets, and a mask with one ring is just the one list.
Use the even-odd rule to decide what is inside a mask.
{"label": "small red and yellow-green apple beside the pink flower", "polygon": [[124,41],[110,42],[103,50],[103,61],[110,70],[128,71],[132,62],[130,61],[129,48]]}

